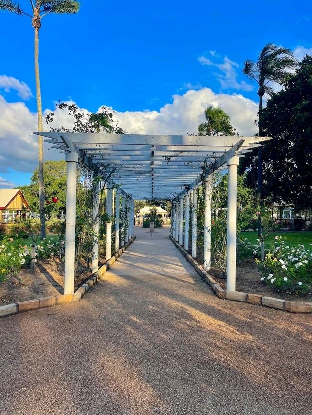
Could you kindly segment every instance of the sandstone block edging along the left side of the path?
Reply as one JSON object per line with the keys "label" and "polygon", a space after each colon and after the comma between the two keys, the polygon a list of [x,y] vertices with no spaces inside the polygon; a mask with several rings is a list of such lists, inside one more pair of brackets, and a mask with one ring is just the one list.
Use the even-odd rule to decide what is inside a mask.
{"label": "sandstone block edging along the left side of the path", "polygon": [[129,241],[122,246],[116,254],[114,254],[106,263],[101,266],[97,272],[93,274],[85,283],[83,283],[74,294],[60,294],[50,297],[41,297],[36,300],[21,301],[17,303],[11,303],[7,305],[2,305],[0,307],[0,317],[10,316],[12,314],[23,313],[24,311],[35,310],[36,308],[51,307],[59,304],[67,304],[69,302],[78,302],[84,296],[84,294],[89,291],[89,289],[94,285],[98,280],[102,278],[105,272],[114,264],[117,258],[128,248],[130,244],[135,240],[133,236]]}

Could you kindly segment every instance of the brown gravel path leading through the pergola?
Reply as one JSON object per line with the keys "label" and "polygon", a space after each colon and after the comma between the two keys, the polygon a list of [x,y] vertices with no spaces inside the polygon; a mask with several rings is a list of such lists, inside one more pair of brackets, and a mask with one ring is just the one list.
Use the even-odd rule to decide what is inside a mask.
{"label": "brown gravel path leading through the pergola", "polygon": [[222,301],[135,230],[81,302],[0,319],[0,414],[312,414],[312,317]]}

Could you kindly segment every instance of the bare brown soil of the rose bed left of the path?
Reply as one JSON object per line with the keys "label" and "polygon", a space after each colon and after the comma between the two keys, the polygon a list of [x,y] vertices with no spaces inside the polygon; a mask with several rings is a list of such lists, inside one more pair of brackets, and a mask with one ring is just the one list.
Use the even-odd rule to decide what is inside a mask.
{"label": "bare brown soil of the rose bed left of the path", "polygon": [[[105,261],[104,261],[105,262]],[[84,269],[75,277],[75,290],[88,280],[90,271]],[[35,272],[23,269],[10,275],[0,285],[0,306],[11,302],[34,300],[64,293],[64,263],[58,258],[37,261]]]}

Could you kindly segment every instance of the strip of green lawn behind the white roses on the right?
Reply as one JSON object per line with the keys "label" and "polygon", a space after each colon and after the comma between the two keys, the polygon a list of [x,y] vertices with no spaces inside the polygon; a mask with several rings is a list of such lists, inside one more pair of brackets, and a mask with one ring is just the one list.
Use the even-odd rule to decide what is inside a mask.
{"label": "strip of green lawn behind the white roses on the right", "polygon": [[[312,248],[312,246],[310,246],[310,244],[312,244],[312,232],[310,231],[302,231],[302,232],[292,232],[292,231],[285,232],[284,231],[284,232],[269,233],[266,239],[266,242],[274,243],[274,237],[276,235],[282,235],[285,241],[287,242],[287,245],[291,247],[295,247],[298,244],[303,244],[306,249],[311,250]],[[240,237],[247,238],[251,244],[255,245],[257,244],[258,232],[257,231],[241,232]]]}

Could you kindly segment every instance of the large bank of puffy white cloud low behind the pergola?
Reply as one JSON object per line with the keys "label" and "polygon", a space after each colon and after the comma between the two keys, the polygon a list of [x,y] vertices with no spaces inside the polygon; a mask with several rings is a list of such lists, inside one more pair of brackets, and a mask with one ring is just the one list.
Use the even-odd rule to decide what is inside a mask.
{"label": "large bank of puffy white cloud low behind the pergola", "polygon": [[[215,94],[209,88],[188,90],[183,95],[173,95],[173,102],[159,111],[118,112],[116,119],[128,133],[137,134],[186,134],[197,133],[198,124],[204,121],[204,109],[219,106],[231,116],[231,122],[241,135],[254,135],[257,104],[240,94]],[[83,109],[84,111],[87,111]],[[47,113],[49,110],[45,110]],[[72,117],[65,111],[56,111],[54,126],[72,127]],[[44,123],[44,130],[49,131]],[[23,102],[7,102],[0,95],[0,173],[9,168],[33,172],[38,163],[37,114]],[[50,149],[50,150],[49,150]],[[64,154],[45,143],[45,160],[61,160]],[[1,183],[1,182],[0,182]]]}

